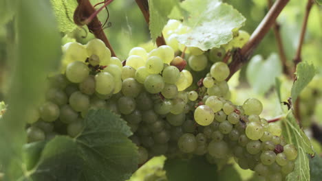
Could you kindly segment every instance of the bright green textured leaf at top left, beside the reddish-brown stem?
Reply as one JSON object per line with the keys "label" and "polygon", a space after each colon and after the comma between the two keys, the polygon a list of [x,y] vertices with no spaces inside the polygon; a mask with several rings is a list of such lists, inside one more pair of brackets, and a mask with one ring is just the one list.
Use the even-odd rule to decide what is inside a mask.
{"label": "bright green textured leaf at top left, beside the reddish-brown stem", "polygon": [[77,8],[75,0],[50,0],[52,8],[58,22],[58,27],[61,32],[72,32],[77,25],[74,23],[74,11]]}

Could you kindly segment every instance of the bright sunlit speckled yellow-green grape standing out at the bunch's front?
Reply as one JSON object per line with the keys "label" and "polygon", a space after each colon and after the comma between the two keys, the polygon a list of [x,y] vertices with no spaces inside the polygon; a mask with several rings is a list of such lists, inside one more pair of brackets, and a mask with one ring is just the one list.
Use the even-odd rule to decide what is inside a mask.
{"label": "bright sunlit speckled yellow-green grape standing out at the bunch's front", "polygon": [[195,121],[200,125],[210,125],[215,115],[213,110],[206,105],[198,106],[194,112]]}

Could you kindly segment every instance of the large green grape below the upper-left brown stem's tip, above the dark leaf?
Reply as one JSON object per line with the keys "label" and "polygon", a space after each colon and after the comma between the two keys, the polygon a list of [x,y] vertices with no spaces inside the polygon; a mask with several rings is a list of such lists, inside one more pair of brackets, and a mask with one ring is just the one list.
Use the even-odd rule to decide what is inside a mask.
{"label": "large green grape below the upper-left brown stem's tip, above the dark leaf", "polygon": [[100,72],[95,75],[96,87],[95,90],[101,95],[113,93],[115,81],[113,75],[107,72]]}

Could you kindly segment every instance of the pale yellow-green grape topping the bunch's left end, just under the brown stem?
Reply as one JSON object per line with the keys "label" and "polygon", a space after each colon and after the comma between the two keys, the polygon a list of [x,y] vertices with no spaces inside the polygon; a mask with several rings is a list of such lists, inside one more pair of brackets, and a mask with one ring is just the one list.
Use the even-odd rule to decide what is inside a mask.
{"label": "pale yellow-green grape topping the bunch's left end, just under the brown stem", "polygon": [[89,40],[86,44],[87,55],[92,56],[96,55],[100,59],[100,62],[104,64],[109,64],[111,59],[111,51],[106,47],[105,43],[98,39]]}

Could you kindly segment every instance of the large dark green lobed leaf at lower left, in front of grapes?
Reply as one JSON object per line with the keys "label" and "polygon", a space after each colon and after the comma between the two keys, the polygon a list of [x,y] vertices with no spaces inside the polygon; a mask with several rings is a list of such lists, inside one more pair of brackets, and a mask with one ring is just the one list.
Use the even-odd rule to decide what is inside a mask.
{"label": "large dark green lobed leaf at lower left, in front of grapes", "polygon": [[[76,138],[56,136],[45,145],[32,180],[109,181],[131,176],[138,166],[138,151],[127,138],[132,134],[127,123],[109,110],[89,110],[84,125]],[[28,147],[36,150],[29,152],[28,162],[39,155],[34,147]]]}

